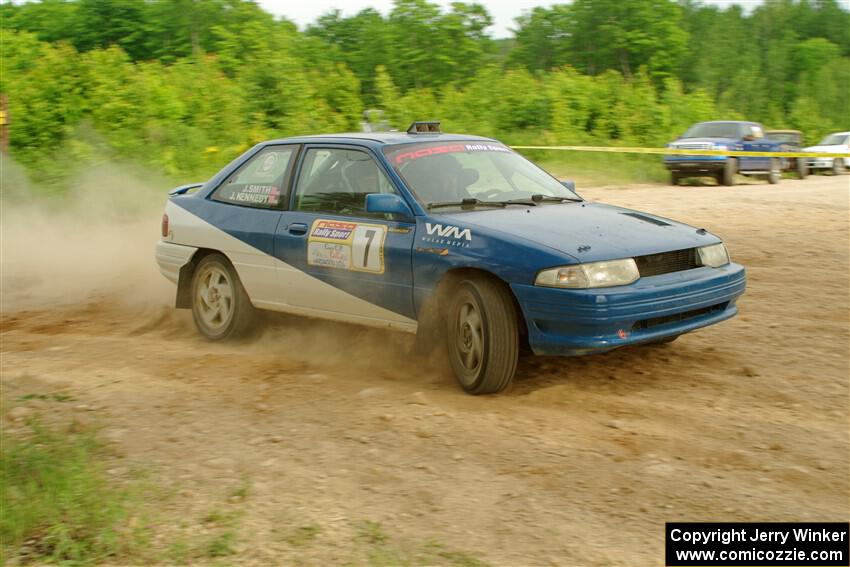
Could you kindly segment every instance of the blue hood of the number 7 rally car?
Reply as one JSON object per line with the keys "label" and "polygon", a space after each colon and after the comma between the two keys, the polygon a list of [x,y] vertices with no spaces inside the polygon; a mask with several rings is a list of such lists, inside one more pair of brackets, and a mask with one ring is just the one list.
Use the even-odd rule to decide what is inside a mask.
{"label": "blue hood of the number 7 rally car", "polygon": [[[442,216],[442,215],[441,215]],[[630,258],[719,242],[711,233],[664,217],[602,203],[546,203],[536,207],[443,216],[446,222],[495,231],[572,256],[580,262]]]}

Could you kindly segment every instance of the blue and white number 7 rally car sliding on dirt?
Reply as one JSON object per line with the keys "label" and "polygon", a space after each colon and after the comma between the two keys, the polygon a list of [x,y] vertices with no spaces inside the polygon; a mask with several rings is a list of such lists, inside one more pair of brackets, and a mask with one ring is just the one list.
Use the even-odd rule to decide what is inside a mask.
{"label": "blue and white number 7 rally car sliding on dirt", "polygon": [[745,272],[718,237],[571,185],[438,122],[274,140],[172,190],[156,257],[210,339],[258,309],[398,329],[444,343],[472,394],[507,387],[523,348],[669,342],[737,313]]}

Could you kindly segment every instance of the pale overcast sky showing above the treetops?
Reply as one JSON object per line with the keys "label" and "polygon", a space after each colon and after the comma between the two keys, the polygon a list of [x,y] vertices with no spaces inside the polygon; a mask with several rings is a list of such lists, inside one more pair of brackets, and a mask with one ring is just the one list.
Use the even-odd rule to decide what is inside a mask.
{"label": "pale overcast sky showing above the treetops", "polygon": [[[432,0],[433,1],[433,0]],[[465,0],[472,2],[475,0]],[[477,0],[483,4],[493,17],[493,26],[488,30],[492,37],[509,37],[511,27],[514,26],[514,18],[524,11],[530,11],[535,6],[551,6],[552,4],[565,3],[564,0],[555,2],[552,0]],[[731,4],[740,4],[751,9],[762,3],[763,0],[703,0],[704,4],[726,7]],[[363,8],[375,8],[386,15],[392,8],[392,0],[258,0],[260,6],[276,16],[285,16],[292,20],[298,27],[303,29],[307,24],[313,23],[316,18],[330,12],[335,8],[342,10],[346,16],[351,16]],[[436,0],[437,4],[443,6],[445,11],[452,0]]]}

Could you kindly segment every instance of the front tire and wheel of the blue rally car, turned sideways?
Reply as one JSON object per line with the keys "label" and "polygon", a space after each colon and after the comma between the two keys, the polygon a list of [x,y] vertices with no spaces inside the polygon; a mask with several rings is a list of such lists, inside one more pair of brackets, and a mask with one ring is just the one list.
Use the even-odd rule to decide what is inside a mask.
{"label": "front tire and wheel of the blue rally car, turned sideways", "polygon": [[462,280],[449,302],[446,323],[449,361],[460,387],[473,395],[507,388],[519,358],[518,317],[510,292],[484,277]]}

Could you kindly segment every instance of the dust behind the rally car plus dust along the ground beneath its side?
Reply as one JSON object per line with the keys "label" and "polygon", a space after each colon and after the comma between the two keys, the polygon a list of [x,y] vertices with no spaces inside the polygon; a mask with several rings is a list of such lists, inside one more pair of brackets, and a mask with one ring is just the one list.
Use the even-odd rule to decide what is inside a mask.
{"label": "dust behind the rally car plus dust along the ground beneath its side", "polygon": [[4,157],[0,312],[63,312],[99,320],[104,334],[182,336],[210,351],[278,353],[354,374],[392,372],[407,362],[410,335],[274,313],[261,312],[257,332],[236,345],[203,339],[190,312],[174,309],[175,286],[154,258],[173,185],[113,162],[89,168],[56,195]]}

